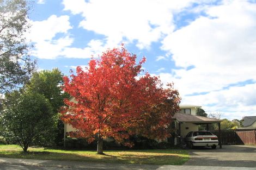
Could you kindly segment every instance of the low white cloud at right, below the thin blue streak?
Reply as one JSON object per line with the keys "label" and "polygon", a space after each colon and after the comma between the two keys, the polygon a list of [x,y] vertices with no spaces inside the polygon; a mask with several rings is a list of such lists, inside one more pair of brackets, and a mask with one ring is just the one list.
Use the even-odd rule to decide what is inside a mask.
{"label": "low white cloud at right, below the thin blue streak", "polygon": [[239,118],[256,114],[256,84],[235,86],[206,95],[186,96],[182,103],[202,104],[205,111],[220,112],[222,118]]}

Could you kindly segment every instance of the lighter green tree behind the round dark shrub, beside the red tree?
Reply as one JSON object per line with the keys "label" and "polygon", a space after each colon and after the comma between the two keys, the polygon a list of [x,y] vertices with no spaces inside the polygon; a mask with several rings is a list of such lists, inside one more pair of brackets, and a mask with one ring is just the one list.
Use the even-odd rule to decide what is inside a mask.
{"label": "lighter green tree behind the round dark shrub, beside the red tree", "polygon": [[[59,108],[64,105],[63,99],[69,98],[68,93],[62,91],[62,78],[63,74],[58,68],[54,68],[51,71],[44,70],[34,73],[31,80],[26,85],[26,88],[29,91],[44,95],[49,100],[55,116],[58,115]],[[54,141],[58,145],[62,142],[64,136],[64,124],[60,118],[58,119],[57,124],[57,136],[54,137]]]}

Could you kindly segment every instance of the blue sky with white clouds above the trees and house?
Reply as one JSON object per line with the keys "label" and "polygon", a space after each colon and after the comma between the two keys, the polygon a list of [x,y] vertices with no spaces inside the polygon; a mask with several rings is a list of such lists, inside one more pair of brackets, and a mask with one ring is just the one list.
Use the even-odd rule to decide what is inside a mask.
{"label": "blue sky with white clouds above the trees and house", "polygon": [[28,39],[39,69],[64,74],[126,48],[174,82],[182,104],[221,118],[256,116],[256,3],[211,0],[39,0]]}

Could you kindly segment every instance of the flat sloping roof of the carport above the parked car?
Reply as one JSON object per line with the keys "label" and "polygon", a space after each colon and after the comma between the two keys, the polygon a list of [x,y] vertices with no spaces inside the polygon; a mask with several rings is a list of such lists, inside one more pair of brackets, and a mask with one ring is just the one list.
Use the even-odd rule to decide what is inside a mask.
{"label": "flat sloping roof of the carport above the parked car", "polygon": [[203,117],[203,116],[196,116],[196,115],[189,115],[189,114],[182,114],[176,113],[173,118],[175,118],[178,122],[182,123],[217,123],[221,122],[221,119]]}

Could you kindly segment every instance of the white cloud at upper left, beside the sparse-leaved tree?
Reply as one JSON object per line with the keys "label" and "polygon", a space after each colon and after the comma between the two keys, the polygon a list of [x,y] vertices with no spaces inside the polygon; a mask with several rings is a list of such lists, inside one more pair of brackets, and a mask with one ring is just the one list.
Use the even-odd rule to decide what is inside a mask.
{"label": "white cloud at upper left, beside the sparse-leaved tree", "polygon": [[[31,32],[27,39],[34,43],[32,55],[41,59],[55,59],[62,55],[65,47],[74,41],[69,35],[70,26],[69,16],[52,15],[43,21],[31,21]],[[56,37],[57,34],[63,34]]]}

